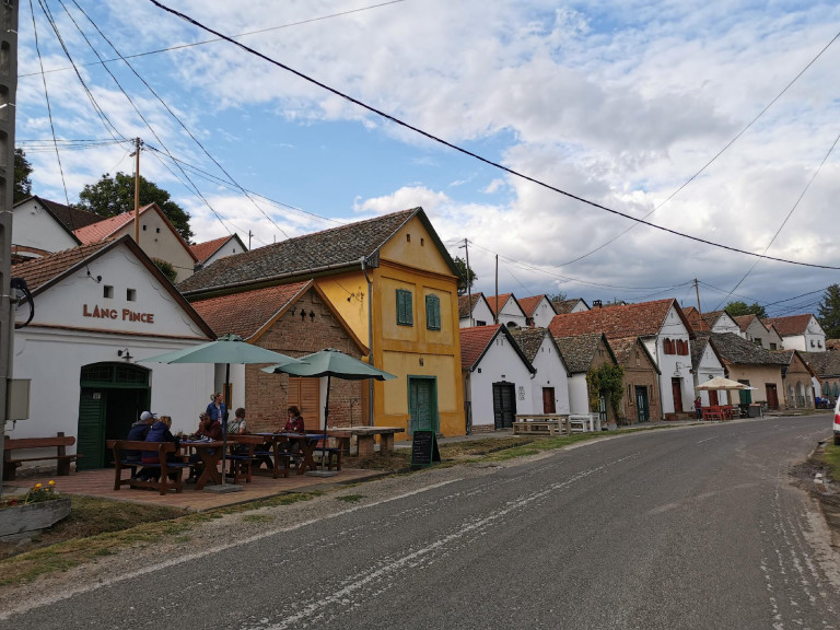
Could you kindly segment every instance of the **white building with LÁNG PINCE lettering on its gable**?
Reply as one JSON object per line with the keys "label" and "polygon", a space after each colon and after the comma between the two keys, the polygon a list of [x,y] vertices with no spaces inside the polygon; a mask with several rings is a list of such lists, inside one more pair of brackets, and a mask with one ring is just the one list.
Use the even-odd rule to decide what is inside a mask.
{"label": "white building with L\u00c1NG PINCE lettering on its gable", "polygon": [[141,411],[191,432],[213,390],[213,365],[138,363],[198,345],[212,330],[133,240],[124,236],[12,268],[26,281],[18,306],[13,375],[31,380],[30,418],[12,436],[77,438],[79,468],[107,463],[105,441],[124,438]]}

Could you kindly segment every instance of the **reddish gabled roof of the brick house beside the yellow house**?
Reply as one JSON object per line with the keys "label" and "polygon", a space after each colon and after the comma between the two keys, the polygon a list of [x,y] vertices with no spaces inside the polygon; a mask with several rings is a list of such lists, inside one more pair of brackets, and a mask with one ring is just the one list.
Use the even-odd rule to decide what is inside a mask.
{"label": "reddish gabled roof of the brick house beside the yellow house", "polygon": [[310,290],[318,294],[362,354],[368,354],[368,347],[353,334],[314,280],[210,298],[192,302],[192,307],[210,325],[217,337],[233,332],[246,341],[255,342]]}

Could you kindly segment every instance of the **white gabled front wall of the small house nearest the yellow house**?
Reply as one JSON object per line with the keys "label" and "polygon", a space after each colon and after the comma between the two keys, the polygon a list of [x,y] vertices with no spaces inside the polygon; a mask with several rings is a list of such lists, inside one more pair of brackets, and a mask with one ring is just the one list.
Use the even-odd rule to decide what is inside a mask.
{"label": "white gabled front wall of the small house nearest the yellow house", "polygon": [[[474,427],[493,425],[493,383],[501,381],[515,385],[516,413],[533,413],[530,372],[504,335],[495,337],[481,362],[470,374],[469,399]],[[542,407],[539,409],[541,411]]]}

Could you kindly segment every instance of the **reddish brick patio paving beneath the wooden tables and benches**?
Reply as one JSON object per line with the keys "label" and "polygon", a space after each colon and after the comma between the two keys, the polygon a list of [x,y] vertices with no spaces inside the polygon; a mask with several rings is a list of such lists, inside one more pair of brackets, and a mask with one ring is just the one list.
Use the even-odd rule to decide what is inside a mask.
{"label": "reddish brick patio paving beneath the wooden tables and benches", "polygon": [[[184,510],[202,512],[238,503],[247,503],[258,499],[278,497],[292,492],[318,492],[327,491],[336,486],[354,483],[372,479],[383,475],[382,470],[363,470],[359,468],[345,468],[334,477],[314,477],[308,475],[292,475],[288,479],[280,477],[273,479],[265,470],[253,475],[250,483],[240,482],[243,488],[240,492],[213,492],[210,486],[197,491],[194,483],[184,483],[184,491],[176,494],[174,491],[161,495],[156,490],[140,490],[122,487],[114,490],[114,469],[102,468],[98,470],[82,470],[71,472],[67,477],[37,475],[32,477],[19,477],[14,481],[3,485],[3,497],[9,494],[23,494],[35,483],[45,486],[54,480],[56,489],[63,494],[78,494],[81,497],[95,497],[112,499],[129,503],[144,503],[149,505],[166,505],[182,508]],[[228,483],[232,483],[229,481]]]}

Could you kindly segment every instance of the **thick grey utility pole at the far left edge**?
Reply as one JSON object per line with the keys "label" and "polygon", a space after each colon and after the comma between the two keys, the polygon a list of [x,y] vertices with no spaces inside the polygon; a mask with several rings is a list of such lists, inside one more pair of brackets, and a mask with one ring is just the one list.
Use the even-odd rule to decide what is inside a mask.
{"label": "thick grey utility pole at the far left edge", "polygon": [[[12,200],[14,198],[14,119],[18,98],[18,2],[0,4],[0,440],[5,441],[9,392],[14,364],[14,302],[12,301]],[[3,469],[0,467],[0,499]]]}

